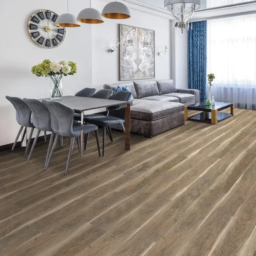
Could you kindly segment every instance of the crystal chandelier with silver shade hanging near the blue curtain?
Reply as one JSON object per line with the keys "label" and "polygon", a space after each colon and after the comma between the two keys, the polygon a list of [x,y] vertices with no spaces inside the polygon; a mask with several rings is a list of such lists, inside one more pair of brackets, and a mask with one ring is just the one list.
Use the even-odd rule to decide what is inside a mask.
{"label": "crystal chandelier with silver shade hanging near the blue curtain", "polygon": [[191,21],[191,29],[193,29],[192,17],[200,5],[201,0],[164,0],[164,8],[171,12],[175,19],[175,27],[181,29],[182,33],[186,28],[189,30],[189,20]]}

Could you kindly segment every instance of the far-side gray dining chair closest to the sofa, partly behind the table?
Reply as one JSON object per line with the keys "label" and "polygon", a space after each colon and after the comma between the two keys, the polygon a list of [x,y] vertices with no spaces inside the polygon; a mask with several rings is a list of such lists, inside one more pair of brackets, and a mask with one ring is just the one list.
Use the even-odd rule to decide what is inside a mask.
{"label": "far-side gray dining chair closest to the sofa, partly behind the table", "polygon": [[[129,101],[131,98],[131,92],[120,91],[118,93],[113,94],[108,99],[112,100],[121,100],[121,101]],[[111,142],[113,142],[113,136],[111,132],[111,125],[120,125],[122,131],[125,132],[124,122],[125,122],[125,108],[110,111],[108,116],[103,114],[96,114],[95,116],[84,116],[84,122],[101,126],[103,128],[103,145],[102,145],[102,155],[105,154],[105,137],[106,130],[108,131]]]}

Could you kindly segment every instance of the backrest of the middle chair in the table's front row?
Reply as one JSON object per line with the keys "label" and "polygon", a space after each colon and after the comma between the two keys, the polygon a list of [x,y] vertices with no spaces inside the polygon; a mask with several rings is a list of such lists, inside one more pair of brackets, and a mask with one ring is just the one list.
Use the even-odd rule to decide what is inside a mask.
{"label": "backrest of the middle chair in the table's front row", "polygon": [[23,101],[32,111],[33,125],[40,131],[52,131],[51,115],[48,108],[38,99],[26,99]]}

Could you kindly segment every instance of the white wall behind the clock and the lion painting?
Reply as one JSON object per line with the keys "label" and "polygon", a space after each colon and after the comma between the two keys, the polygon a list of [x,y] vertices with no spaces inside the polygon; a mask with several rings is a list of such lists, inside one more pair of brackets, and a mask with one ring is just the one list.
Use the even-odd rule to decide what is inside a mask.
{"label": "white wall behind the clock and the lion painting", "polygon": [[[5,99],[6,95],[45,98],[49,97],[49,81],[31,73],[31,67],[49,58],[52,61],[72,60],[79,65],[75,76],[63,79],[63,95],[74,95],[84,87],[101,89],[105,83],[118,82],[118,53],[107,52],[110,40],[118,37],[118,23],[155,30],[156,79],[171,78],[170,20],[152,15],[142,9],[131,8],[128,20],[108,20],[105,23],[82,24],[80,28],[67,28],[66,38],[55,49],[44,49],[35,45],[27,32],[29,16],[39,9],[49,9],[58,14],[66,12],[63,0],[12,0],[2,1],[0,21],[0,145],[13,143],[19,126],[15,110]],[[93,8],[100,12],[106,1],[93,0]],[[72,0],[70,12],[77,15],[89,7],[89,1]],[[142,8],[142,7],[140,7]],[[151,11],[152,12],[152,11]],[[11,17],[13,18],[10,18]],[[157,47],[167,45],[168,52],[157,56]]]}

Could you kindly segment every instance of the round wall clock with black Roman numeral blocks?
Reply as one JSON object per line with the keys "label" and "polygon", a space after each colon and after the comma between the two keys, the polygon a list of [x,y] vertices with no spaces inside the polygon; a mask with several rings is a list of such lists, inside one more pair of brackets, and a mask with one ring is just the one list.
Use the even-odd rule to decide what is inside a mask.
{"label": "round wall clock with black Roman numeral blocks", "polygon": [[38,46],[55,48],[64,41],[66,29],[55,25],[57,17],[55,12],[39,10],[29,18],[29,35]]}

